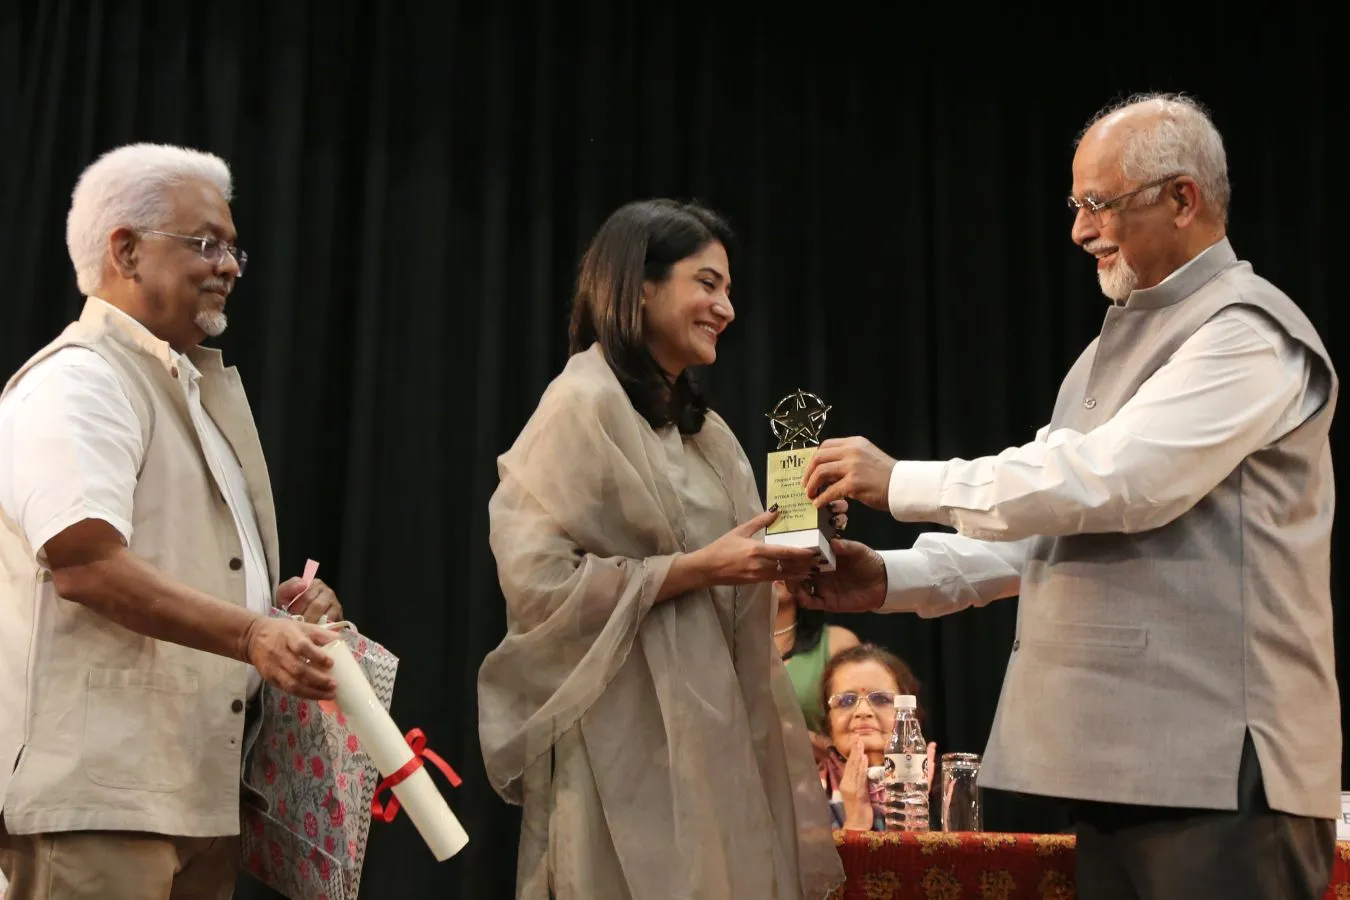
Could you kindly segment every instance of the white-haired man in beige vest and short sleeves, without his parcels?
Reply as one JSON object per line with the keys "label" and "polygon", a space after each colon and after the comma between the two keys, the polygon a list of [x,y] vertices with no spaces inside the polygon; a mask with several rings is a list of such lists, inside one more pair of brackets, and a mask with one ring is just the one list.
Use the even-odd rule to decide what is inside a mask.
{"label": "white-haired man in beige vest and short sleeves, without his parcels", "polygon": [[90,165],[66,232],[84,310],[0,394],[9,900],[230,897],[262,681],[335,694],[310,622],[342,609],[320,580],[278,586],[248,402],[200,345],[247,262],[230,196],[193,150]]}

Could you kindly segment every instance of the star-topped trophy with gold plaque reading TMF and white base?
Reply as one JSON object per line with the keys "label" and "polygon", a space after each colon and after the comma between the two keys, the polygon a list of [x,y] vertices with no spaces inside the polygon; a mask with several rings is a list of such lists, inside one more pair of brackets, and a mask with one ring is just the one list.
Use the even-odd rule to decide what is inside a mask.
{"label": "star-topped trophy with gold plaque reading TMF and white base", "polygon": [[802,488],[802,472],[821,444],[821,429],[830,407],[801,387],[768,413],[778,449],[768,455],[764,509],[778,503],[778,518],[764,532],[764,542],[778,546],[809,546],[821,553],[821,571],[834,571],[830,510],[815,509]]}

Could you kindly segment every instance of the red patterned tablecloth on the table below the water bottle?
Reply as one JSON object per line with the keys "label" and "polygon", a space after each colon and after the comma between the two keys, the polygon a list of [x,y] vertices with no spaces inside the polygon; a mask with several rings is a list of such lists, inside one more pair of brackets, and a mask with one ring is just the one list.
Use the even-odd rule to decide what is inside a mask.
{"label": "red patterned tablecloth on the table below the water bottle", "polygon": [[[1072,900],[1072,834],[836,831],[848,880],[830,900]],[[1326,900],[1350,900],[1350,841]]]}

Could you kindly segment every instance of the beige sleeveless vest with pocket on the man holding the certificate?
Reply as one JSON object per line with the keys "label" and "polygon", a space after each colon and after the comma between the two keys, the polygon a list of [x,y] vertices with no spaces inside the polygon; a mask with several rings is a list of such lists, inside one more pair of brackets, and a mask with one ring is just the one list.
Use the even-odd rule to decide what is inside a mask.
{"label": "beige sleeveless vest with pocket on the man holding the certificate", "polygon": [[[101,301],[32,356],[97,352],[140,420],[131,549],[169,578],[246,606],[234,518],[202,455],[174,351]],[[201,402],[243,467],[277,584],[277,521],[252,413],[220,352],[188,354]],[[0,514],[0,808],[12,834],[135,830],[189,837],[239,830],[247,667],[154,641],[53,590],[16,524]]]}

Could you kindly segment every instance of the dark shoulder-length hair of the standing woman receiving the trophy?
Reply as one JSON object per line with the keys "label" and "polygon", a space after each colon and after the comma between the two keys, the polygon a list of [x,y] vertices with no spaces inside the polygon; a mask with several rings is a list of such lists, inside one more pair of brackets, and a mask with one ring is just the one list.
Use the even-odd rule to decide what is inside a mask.
{"label": "dark shoulder-length hair of the standing woman receiving the trophy", "polygon": [[711,209],[675,200],[643,200],[617,209],[582,256],[572,298],[568,355],[599,341],[633,409],[652,428],[703,428],[707,402],[688,371],[672,382],[652,358],[643,332],[643,282],[663,282],[671,267],[713,242],[732,258],[736,237]]}

